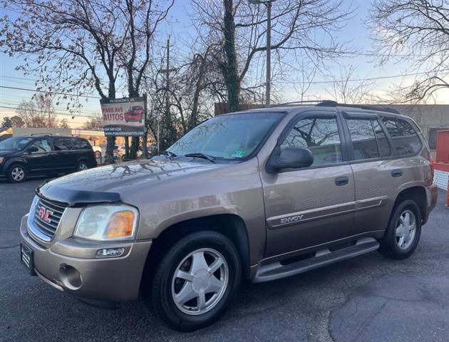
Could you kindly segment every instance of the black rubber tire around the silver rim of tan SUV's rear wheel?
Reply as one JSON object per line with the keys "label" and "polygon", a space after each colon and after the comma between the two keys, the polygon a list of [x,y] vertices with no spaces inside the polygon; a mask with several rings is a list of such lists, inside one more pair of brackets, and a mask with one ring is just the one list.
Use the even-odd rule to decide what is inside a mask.
{"label": "black rubber tire around the silver rim of tan SUV's rear wheel", "polygon": [[[396,228],[400,222],[401,216],[406,212],[412,212],[415,217],[414,221],[416,224],[415,234],[413,236],[413,241],[410,245],[404,246],[406,248],[400,248],[398,239],[396,236]],[[407,259],[415,252],[416,247],[421,234],[421,212],[415,201],[412,199],[405,199],[402,202],[396,204],[393,212],[391,213],[390,222],[388,222],[388,227],[386,229],[385,235],[381,239],[381,247],[378,249],[379,253],[383,256],[391,259]]]}

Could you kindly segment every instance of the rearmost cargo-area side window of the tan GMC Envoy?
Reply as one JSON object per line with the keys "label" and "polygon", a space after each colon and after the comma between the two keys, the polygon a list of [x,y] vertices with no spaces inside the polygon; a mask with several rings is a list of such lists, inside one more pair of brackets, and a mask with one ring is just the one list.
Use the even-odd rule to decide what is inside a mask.
{"label": "rearmost cargo-area side window of the tan GMC Envoy", "polygon": [[399,156],[416,155],[423,148],[418,133],[406,120],[383,118],[383,123],[393,139]]}

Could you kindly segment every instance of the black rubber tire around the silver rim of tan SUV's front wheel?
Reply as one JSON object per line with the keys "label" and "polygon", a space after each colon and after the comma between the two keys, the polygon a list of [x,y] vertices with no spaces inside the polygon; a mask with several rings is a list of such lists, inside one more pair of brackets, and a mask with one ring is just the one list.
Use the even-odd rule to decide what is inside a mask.
{"label": "black rubber tire around the silver rim of tan SUV's front wheel", "polygon": [[[224,257],[228,266],[228,281],[227,286],[223,287],[221,299],[217,299],[215,306],[209,311],[204,314],[185,314],[173,299],[172,281],[175,281],[175,270],[180,263],[198,249],[212,249]],[[155,316],[172,328],[178,331],[194,331],[210,325],[224,314],[237,296],[241,280],[242,264],[234,244],[217,232],[195,232],[182,238],[165,254],[155,271],[151,294],[145,300],[153,307]],[[196,300],[199,301],[199,297]]]}

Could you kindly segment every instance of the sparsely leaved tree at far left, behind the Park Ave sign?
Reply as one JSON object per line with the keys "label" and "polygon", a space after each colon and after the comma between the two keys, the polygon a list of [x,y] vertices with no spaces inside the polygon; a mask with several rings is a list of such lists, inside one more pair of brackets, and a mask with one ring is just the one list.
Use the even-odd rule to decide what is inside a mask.
{"label": "sparsely leaved tree at far left, behind the Park Ave sign", "polygon": [[[19,70],[38,76],[38,90],[61,93],[60,100],[68,101],[68,109],[91,89],[103,99],[115,98],[118,54],[128,32],[119,4],[101,0],[4,1],[3,6],[20,15],[0,19],[1,50],[24,57]],[[113,162],[114,142],[115,138],[108,137],[105,162]]]}

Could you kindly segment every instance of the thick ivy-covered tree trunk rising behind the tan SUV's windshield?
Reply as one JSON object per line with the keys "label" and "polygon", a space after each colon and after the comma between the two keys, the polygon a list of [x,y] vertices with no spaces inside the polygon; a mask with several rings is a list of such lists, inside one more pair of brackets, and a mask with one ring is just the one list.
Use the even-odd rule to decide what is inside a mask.
{"label": "thick ivy-covered tree trunk rising behind the tan SUV's windshield", "polygon": [[239,110],[240,81],[237,71],[237,53],[235,51],[235,24],[233,0],[223,0],[224,4],[224,53],[227,63],[224,66],[224,83],[227,88],[229,112]]}

